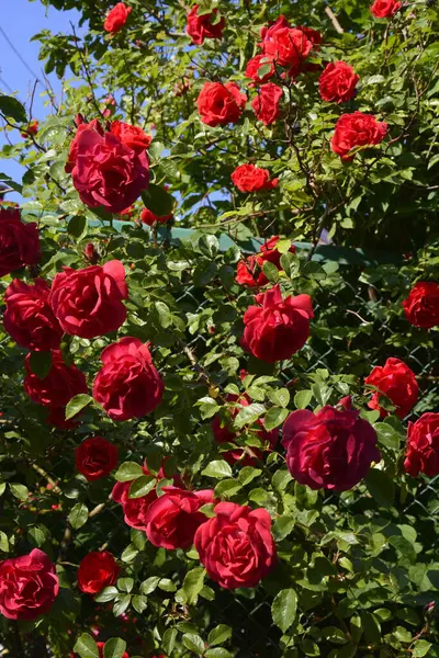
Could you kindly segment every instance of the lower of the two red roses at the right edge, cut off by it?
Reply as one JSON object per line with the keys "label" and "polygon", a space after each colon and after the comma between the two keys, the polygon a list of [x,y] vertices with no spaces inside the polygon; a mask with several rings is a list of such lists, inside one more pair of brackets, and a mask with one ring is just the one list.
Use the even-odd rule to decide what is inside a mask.
{"label": "lower of the two red roses at the right edge, cut off by it", "polygon": [[404,468],[414,477],[439,475],[439,413],[423,413],[416,422],[408,422]]}

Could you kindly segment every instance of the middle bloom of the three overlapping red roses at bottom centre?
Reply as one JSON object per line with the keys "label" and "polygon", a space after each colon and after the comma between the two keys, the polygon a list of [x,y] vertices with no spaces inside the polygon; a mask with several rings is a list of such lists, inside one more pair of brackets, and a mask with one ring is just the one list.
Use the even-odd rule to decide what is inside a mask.
{"label": "middle bloom of the three overlapping red roses at bottom centre", "polygon": [[146,536],[154,546],[171,551],[189,548],[196,529],[206,520],[199,510],[213,502],[213,491],[187,491],[178,487],[165,487],[164,491],[146,512]]}

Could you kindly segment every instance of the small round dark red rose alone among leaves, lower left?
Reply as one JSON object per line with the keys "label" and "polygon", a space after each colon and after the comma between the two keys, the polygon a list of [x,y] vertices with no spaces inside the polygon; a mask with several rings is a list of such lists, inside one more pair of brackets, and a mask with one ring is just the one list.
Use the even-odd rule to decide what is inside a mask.
{"label": "small round dark red rose alone among leaves, lower left", "polygon": [[109,475],[117,466],[117,446],[103,436],[93,436],[82,441],[75,451],[78,473],[89,483]]}

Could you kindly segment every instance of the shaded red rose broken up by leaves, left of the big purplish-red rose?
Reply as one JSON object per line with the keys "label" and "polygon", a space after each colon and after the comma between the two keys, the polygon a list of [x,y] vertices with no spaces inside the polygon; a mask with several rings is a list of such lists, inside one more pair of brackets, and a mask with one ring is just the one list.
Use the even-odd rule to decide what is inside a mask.
{"label": "shaded red rose broken up by leaves, left of the big purplish-red rose", "polygon": [[[238,412],[240,411],[240,407],[248,407],[248,405],[250,404],[250,398],[248,397],[248,395],[241,395],[240,397],[238,397],[237,395],[227,395],[227,401],[229,402],[238,402],[238,405],[236,405],[236,407],[234,407],[233,409],[229,409],[229,417],[230,417],[230,421],[233,422],[233,420],[235,419],[235,417],[238,415]],[[268,443],[269,446],[267,450],[271,451],[275,447],[275,444],[278,443],[278,439],[279,439],[279,430],[274,429],[271,430],[271,432],[268,432],[264,428],[263,428],[263,421],[262,419],[258,419],[256,421],[256,424],[259,426],[259,430],[257,430],[255,433],[258,436],[258,439],[262,442],[262,443]],[[238,434],[236,432],[234,432],[232,429],[229,429],[227,423],[224,423],[224,421],[222,421],[222,419],[219,418],[219,416],[215,416],[215,418],[213,419],[212,423],[211,423],[211,428],[212,428],[212,432],[213,432],[213,436],[216,441],[216,443],[235,443],[236,442],[236,438],[238,436]],[[251,446],[251,453],[254,453],[254,455],[251,455],[251,453],[249,454],[248,450],[246,450],[246,447],[239,447],[237,446],[236,449],[233,450],[228,450],[227,452],[223,452],[221,453],[222,457],[228,462],[229,464],[235,464],[236,462],[239,462],[239,464],[241,466],[255,466],[258,462],[258,460],[262,460],[263,455],[261,453],[261,451],[257,447]]]}

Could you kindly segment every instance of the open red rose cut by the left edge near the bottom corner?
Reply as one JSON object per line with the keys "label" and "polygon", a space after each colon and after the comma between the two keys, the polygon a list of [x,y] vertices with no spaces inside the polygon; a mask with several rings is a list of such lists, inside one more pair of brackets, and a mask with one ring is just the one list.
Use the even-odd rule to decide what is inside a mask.
{"label": "open red rose cut by the left edge near the bottom corner", "polygon": [[45,614],[58,591],[55,565],[38,548],[0,563],[0,612],[8,620],[34,620]]}

